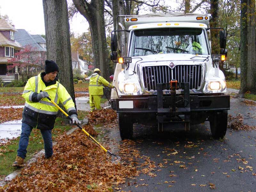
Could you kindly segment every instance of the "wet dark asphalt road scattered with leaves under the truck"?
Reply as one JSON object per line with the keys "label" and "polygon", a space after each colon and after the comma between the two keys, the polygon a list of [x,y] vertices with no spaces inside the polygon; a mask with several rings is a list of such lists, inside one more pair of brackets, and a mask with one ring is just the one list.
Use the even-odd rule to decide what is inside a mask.
{"label": "wet dark asphalt road scattered with leaves under the truck", "polygon": [[[243,114],[245,123],[256,125],[256,107],[231,99],[229,114]],[[134,124],[135,148],[140,163],[152,168],[119,186],[124,191],[256,191],[256,131],[227,130],[224,140],[211,138],[209,122],[190,132],[158,133],[156,127]],[[116,126],[108,137],[118,143]],[[172,155],[175,149],[178,153]],[[115,145],[112,146],[115,151]],[[148,168],[139,166],[140,170]],[[145,172],[145,171],[144,171]],[[214,189],[212,189],[212,188]],[[121,191],[120,190],[120,191]]]}

